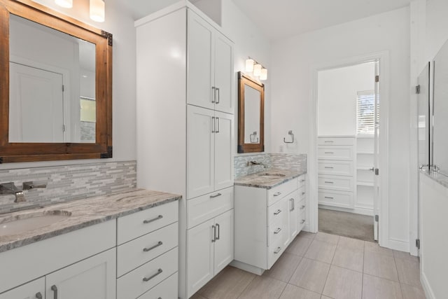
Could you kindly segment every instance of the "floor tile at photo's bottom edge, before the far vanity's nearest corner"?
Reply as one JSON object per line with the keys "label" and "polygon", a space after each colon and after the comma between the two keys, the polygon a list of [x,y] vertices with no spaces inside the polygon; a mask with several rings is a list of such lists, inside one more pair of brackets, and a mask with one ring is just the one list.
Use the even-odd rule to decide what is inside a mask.
{"label": "floor tile at photo's bottom edge, before the far vanity's nearest corner", "polygon": [[257,276],[247,286],[239,299],[276,299],[279,298],[286,282],[266,276]]}

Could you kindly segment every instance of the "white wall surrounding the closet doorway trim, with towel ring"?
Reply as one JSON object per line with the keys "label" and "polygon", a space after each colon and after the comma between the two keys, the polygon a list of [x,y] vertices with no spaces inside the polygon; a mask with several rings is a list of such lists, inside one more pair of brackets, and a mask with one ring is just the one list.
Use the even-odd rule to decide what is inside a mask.
{"label": "white wall surrounding the closet doorway trim, with towel ring", "polygon": [[[272,152],[293,130],[298,144],[289,151],[309,153],[311,67],[388,50],[389,174],[388,244],[409,249],[409,8],[321,29],[272,46]],[[386,244],[386,246],[388,245]]]}

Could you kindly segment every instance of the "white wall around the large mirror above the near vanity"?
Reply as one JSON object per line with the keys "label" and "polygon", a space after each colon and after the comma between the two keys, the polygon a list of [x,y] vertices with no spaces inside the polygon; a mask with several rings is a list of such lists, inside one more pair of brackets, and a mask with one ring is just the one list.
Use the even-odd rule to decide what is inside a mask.
{"label": "white wall around the large mirror above the near vanity", "polygon": [[71,9],[61,8],[53,0],[35,2],[113,34],[113,158],[6,163],[0,165],[0,169],[136,160],[135,29],[132,13],[127,10],[123,1],[108,0],[106,21],[96,23],[89,18],[88,0],[73,1]]}

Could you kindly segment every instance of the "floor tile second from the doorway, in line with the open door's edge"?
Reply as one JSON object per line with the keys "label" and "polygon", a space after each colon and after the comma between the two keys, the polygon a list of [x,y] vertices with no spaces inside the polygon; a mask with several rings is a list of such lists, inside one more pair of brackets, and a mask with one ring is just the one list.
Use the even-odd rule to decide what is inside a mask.
{"label": "floor tile second from the doorway, in line with the open door's edge", "polygon": [[364,273],[377,277],[398,281],[398,273],[393,256],[381,253],[364,253]]}

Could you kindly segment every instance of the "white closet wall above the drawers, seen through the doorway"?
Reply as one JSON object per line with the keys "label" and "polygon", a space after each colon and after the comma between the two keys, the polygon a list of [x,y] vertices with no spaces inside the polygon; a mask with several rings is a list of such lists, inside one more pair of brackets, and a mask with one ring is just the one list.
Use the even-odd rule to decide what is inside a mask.
{"label": "white closet wall above the drawers, seen through the doorway", "polygon": [[374,62],[318,72],[317,134],[356,135],[358,92],[374,90]]}

